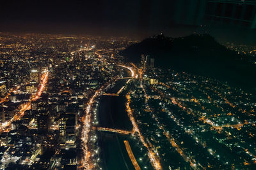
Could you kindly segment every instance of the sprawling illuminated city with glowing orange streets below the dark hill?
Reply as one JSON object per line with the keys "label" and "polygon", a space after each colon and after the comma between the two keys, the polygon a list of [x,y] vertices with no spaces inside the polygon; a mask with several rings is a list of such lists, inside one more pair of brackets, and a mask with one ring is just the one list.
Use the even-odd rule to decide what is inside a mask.
{"label": "sprawling illuminated city with glowing orange streets below the dark hill", "polygon": [[128,38],[3,37],[0,169],[253,167],[252,94],[155,55],[124,62]]}

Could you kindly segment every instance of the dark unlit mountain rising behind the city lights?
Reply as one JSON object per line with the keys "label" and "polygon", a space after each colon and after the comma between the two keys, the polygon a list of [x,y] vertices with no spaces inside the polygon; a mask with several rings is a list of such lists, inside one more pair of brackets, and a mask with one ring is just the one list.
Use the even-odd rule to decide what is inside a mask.
{"label": "dark unlit mountain rising behind the city lights", "polygon": [[256,64],[247,55],[220,45],[209,34],[182,38],[163,35],[144,39],[120,52],[129,62],[140,62],[141,54],[154,57],[156,67],[172,68],[227,81],[230,85],[255,90]]}

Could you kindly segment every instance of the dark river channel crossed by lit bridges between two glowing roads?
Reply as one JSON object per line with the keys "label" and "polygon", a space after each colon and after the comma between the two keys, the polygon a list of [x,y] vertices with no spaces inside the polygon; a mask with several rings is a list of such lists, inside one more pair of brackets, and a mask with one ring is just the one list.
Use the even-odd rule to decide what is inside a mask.
{"label": "dark river channel crossed by lit bridges between two glowing roads", "polygon": [[[110,92],[117,92],[125,81],[118,80]],[[102,96],[99,104],[100,127],[131,131],[132,124],[125,111],[125,96]],[[131,139],[131,136],[113,132],[99,132],[99,138],[103,169],[134,169],[124,145],[124,140]]]}

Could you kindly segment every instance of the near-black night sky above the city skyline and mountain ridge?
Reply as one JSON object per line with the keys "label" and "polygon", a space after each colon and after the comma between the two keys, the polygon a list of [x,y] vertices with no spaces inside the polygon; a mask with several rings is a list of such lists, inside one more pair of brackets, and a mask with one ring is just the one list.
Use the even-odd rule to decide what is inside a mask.
{"label": "near-black night sky above the city skyline and mountain ridge", "polygon": [[[199,0],[200,1],[200,0]],[[97,34],[145,38],[163,32],[168,36],[184,36],[193,32],[209,32],[220,39],[247,41],[255,34],[240,27],[204,29],[194,23],[188,11],[188,0],[93,0],[93,1],[2,1],[0,31]],[[195,4],[196,11],[204,11]],[[237,36],[239,32],[240,36]],[[250,41],[250,40],[248,40]]]}

